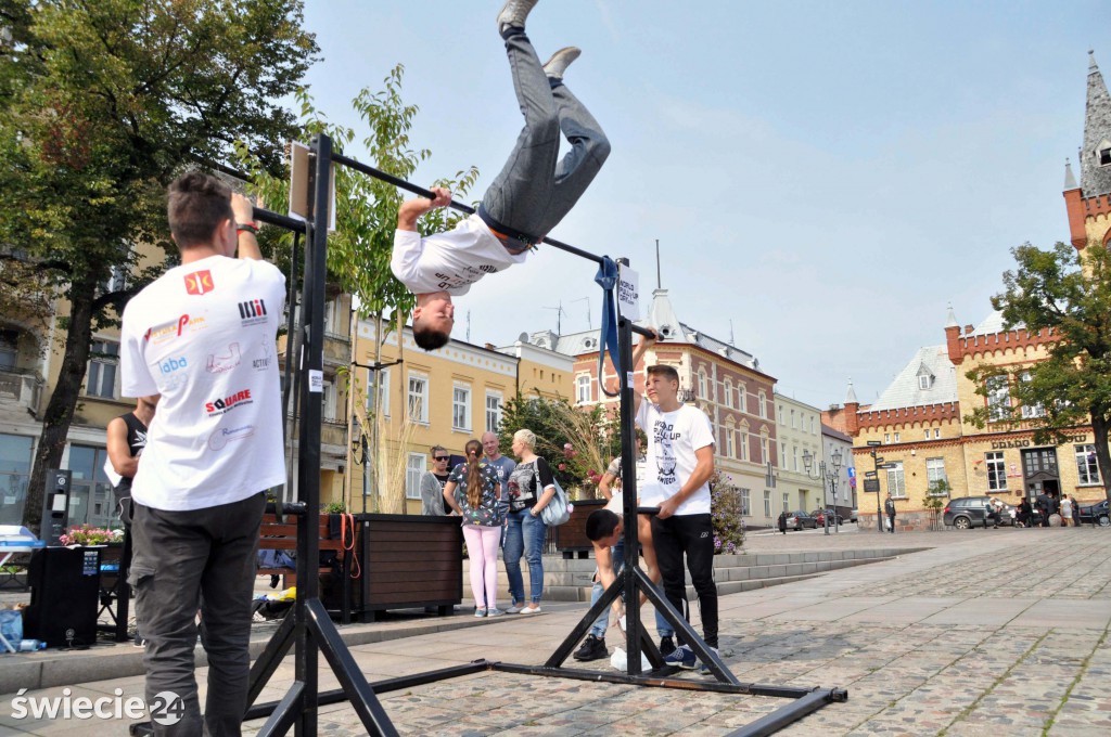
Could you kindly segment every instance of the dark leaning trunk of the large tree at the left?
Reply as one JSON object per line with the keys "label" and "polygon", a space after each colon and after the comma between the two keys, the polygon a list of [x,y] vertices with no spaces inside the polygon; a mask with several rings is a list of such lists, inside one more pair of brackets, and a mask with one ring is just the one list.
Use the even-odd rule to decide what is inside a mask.
{"label": "dark leaning trunk of the large tree at the left", "polygon": [[92,343],[92,302],[97,282],[93,275],[86,275],[74,282],[70,290],[69,331],[66,334],[66,353],[62,356],[58,384],[50,395],[50,402],[42,417],[42,435],[34,452],[34,465],[27,488],[27,506],[23,508],[23,524],[39,533],[42,522],[42,489],[47,471],[61,467],[66,438],[69,435],[73,411],[81,393],[86,367]]}

